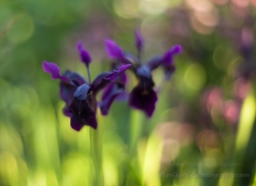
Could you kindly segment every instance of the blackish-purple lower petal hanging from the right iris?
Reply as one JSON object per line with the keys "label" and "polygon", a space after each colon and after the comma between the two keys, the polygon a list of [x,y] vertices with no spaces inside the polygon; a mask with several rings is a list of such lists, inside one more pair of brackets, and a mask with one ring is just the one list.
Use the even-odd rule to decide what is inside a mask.
{"label": "blackish-purple lower petal hanging from the right iris", "polygon": [[157,94],[151,88],[144,89],[140,86],[135,86],[129,98],[129,105],[135,109],[144,111],[148,117],[151,117],[155,110]]}

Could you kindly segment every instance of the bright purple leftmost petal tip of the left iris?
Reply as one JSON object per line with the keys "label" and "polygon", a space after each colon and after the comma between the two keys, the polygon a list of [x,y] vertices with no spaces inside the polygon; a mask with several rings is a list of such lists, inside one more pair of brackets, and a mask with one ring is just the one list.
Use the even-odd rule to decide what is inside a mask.
{"label": "bright purple leftmost petal tip of the left iris", "polygon": [[69,79],[61,74],[60,67],[55,63],[44,60],[42,65],[44,72],[50,73],[52,79],[61,79],[62,81],[69,82]]}

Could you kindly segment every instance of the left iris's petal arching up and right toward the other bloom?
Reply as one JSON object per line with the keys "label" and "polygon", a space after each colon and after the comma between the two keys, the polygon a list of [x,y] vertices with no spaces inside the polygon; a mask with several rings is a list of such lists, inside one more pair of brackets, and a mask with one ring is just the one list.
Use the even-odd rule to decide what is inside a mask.
{"label": "left iris's petal arching up and right toward the other bloom", "polygon": [[119,71],[114,70],[112,73],[99,74],[97,78],[92,82],[92,91],[97,94],[99,90],[107,86],[108,83],[115,81],[121,73],[124,73],[131,67],[131,64],[122,65]]}

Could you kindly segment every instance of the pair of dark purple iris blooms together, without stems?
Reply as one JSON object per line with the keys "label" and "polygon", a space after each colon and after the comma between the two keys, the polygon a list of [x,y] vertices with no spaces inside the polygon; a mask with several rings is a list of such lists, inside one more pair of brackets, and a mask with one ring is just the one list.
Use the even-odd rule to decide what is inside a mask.
{"label": "pair of dark purple iris blooms together, without stems", "polygon": [[[174,72],[173,57],[181,52],[181,46],[173,46],[163,56],[155,56],[142,64],[140,55],[143,49],[143,38],[139,32],[135,32],[135,46],[137,57],[133,54],[123,52],[115,42],[106,40],[107,54],[114,60],[113,72],[100,73],[91,83],[89,64],[92,59],[81,42],[78,42],[78,52],[81,62],[87,68],[89,79],[79,73],[66,71],[61,74],[60,68],[52,62],[43,61],[43,70],[51,74],[52,79],[60,79],[60,95],[65,102],[64,115],[70,117],[71,127],[79,131],[82,126],[97,128],[96,109],[99,107],[103,115],[114,100],[124,92],[126,76],[124,72],[130,69],[135,73],[138,84],[129,96],[129,105],[135,109],[144,111],[149,117],[155,110],[158,100],[157,93],[153,89],[151,71],[164,67],[165,78],[169,79]],[[96,95],[103,90],[101,101],[96,100]]]}

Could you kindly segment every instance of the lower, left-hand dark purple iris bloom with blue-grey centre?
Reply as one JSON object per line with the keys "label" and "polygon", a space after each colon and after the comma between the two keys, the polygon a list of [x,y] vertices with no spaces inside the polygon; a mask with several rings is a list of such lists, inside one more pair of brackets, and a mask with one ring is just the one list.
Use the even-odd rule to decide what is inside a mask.
{"label": "lower, left-hand dark purple iris bloom with blue-grey centre", "polygon": [[[78,51],[80,59],[85,63],[89,73],[91,57],[81,43],[78,43]],[[46,73],[50,73],[52,79],[61,80],[60,94],[65,102],[64,114],[71,118],[70,125],[77,131],[82,126],[97,128],[97,93],[106,86],[116,86],[116,88],[111,88],[111,92],[105,92],[102,101],[99,103],[102,113],[107,113],[113,100],[121,93],[116,80],[130,66],[130,64],[126,64],[122,65],[119,71],[100,73],[91,83],[90,73],[89,82],[87,82],[79,73],[66,71],[64,74],[61,74],[60,68],[55,63],[43,61],[43,70]]]}

